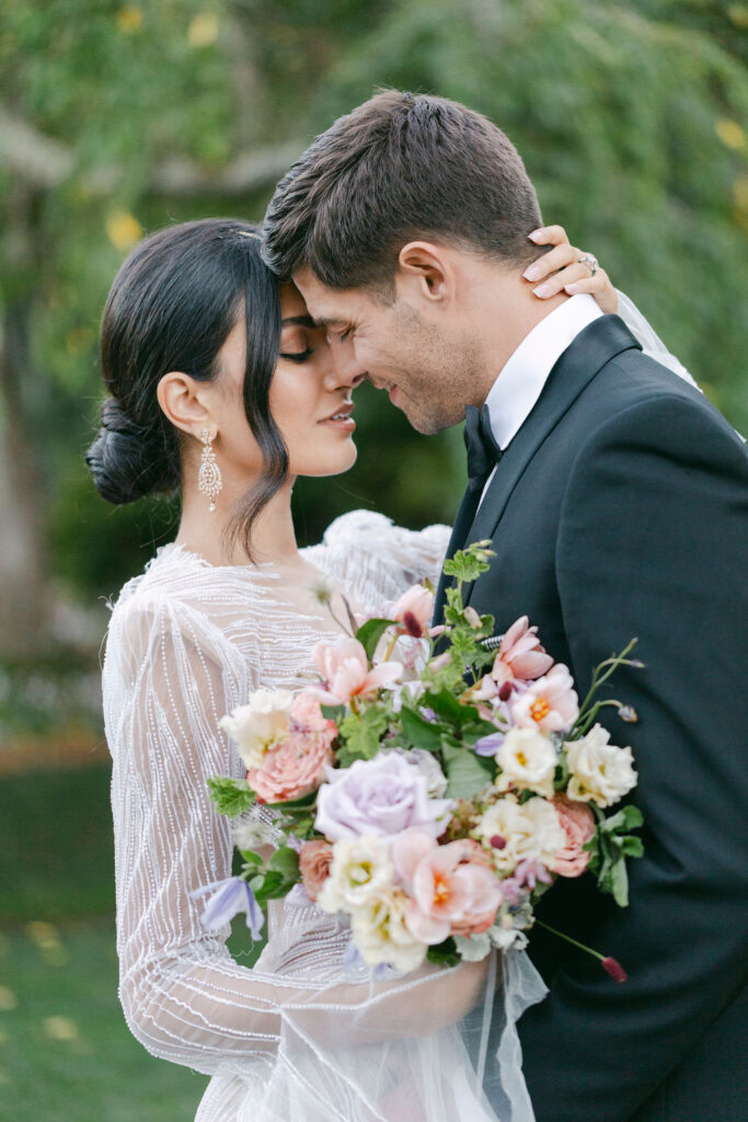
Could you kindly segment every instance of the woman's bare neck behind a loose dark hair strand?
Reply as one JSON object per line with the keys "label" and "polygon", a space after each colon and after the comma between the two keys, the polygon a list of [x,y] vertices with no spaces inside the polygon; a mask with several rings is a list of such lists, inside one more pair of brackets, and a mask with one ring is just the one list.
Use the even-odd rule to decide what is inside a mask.
{"label": "woman's bare neck behind a loose dark hair strand", "polygon": [[[287,480],[262,508],[252,524],[252,560],[259,563],[287,564],[298,558],[294,522],[290,515],[293,479]],[[224,488],[228,491],[228,488]],[[219,495],[215,511],[196,488],[187,488],[182,500],[182,518],[176,536],[178,545],[198,553],[211,564],[247,564],[242,527],[233,528],[237,503],[242,494]]]}

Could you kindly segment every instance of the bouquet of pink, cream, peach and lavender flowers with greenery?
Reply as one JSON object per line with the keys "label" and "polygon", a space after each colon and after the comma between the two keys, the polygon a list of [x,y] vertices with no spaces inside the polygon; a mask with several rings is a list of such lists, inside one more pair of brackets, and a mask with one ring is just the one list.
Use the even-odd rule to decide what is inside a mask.
{"label": "bouquet of pink, cream, peach and lavender flowers with greenery", "polygon": [[[523,947],[560,876],[589,871],[627,904],[641,815],[616,804],[637,774],[631,749],[595,719],[615,706],[636,720],[598,699],[617,666],[640,665],[628,659],[634,642],[595,670],[580,703],[527,617],[492,638],[493,618],[464,606],[488,546],[446,561],[443,627],[430,628],[433,591],[416,586],[389,618],[351,617],[349,637],[320,644],[317,677],[301,692],[257,690],[223,718],[247,779],[211,780],[211,797],[232,817],[273,808],[287,844],[265,862],[262,825],[240,820],[242,873],[200,890],[215,890],[206,926],[244,910],[257,934],[261,907],[290,894],[348,917],[351,963],[410,971]],[[625,981],[615,959],[592,954]]]}

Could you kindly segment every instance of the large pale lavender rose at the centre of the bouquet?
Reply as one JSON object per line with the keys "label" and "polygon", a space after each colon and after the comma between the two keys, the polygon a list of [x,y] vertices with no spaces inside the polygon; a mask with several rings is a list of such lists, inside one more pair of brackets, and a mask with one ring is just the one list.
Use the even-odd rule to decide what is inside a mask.
{"label": "large pale lavender rose at the centre of the bouquet", "polygon": [[317,793],[315,826],[332,842],[363,834],[388,837],[412,826],[437,838],[454,807],[451,799],[428,798],[428,779],[419,767],[397,752],[380,752],[375,760],[357,760],[340,771],[327,769],[327,782]]}

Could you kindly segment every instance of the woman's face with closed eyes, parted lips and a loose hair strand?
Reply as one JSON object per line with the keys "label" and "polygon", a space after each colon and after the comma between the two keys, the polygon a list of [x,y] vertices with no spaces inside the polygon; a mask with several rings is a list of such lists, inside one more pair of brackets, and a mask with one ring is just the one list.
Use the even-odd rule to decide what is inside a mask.
{"label": "woman's face with closed eyes, parted lips and a loose hair strand", "polygon": [[[270,384],[269,405],[288,449],[288,473],[339,475],[353,466],[357,456],[352,439],[355,422],[350,416],[351,383],[342,381],[335,374],[325,332],[314,325],[298,289],[284,284],[279,296],[280,355]],[[240,321],[221,348],[220,361],[232,387],[234,407],[230,415],[223,411],[220,431],[224,448],[233,445],[234,456],[241,461],[240,472],[255,475],[261,466],[259,449],[253,438],[251,443],[247,441],[243,404],[236,408],[236,395],[241,401],[244,378],[244,324]]]}

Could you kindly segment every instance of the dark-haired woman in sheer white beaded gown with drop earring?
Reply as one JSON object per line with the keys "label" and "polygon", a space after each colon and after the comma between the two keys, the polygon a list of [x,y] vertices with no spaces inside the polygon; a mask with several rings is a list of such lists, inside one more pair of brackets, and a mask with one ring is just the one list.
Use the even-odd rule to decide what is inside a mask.
{"label": "dark-haired woman in sheer white beaded gown with drop earring", "polygon": [[[552,237],[546,274],[580,257],[563,231]],[[604,274],[564,276],[616,310]],[[644,346],[677,365],[621,305]],[[298,688],[345,618],[343,597],[381,615],[412,583],[437,580],[449,528],[358,511],[297,548],[294,478],[355,460],[353,387],[299,293],[262,264],[256,227],[188,222],[136,247],[109,295],[101,360],[110,396],[87,456],[99,491],[114,504],[182,496],[176,540],[114,605],[103,670],[128,1026],[154,1055],[213,1076],[198,1122],[496,1122],[480,1077],[495,963],[375,978],[347,965],[335,918],[276,902],[248,969],[229,955],[228,926],[205,930],[193,899],[231,873],[230,825],[206,785],[242,774],[221,717],[260,687]],[[270,819],[249,828],[273,843]],[[512,957],[509,1021],[542,995]],[[501,1122],[530,1122],[507,1040]]]}

